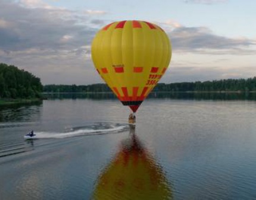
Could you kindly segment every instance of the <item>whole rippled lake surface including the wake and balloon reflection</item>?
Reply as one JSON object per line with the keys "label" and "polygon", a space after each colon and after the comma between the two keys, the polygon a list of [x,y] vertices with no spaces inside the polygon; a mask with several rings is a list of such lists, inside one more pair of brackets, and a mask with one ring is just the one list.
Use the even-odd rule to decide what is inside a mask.
{"label": "whole rippled lake surface including the wake and balloon reflection", "polygon": [[0,108],[0,199],[256,199],[255,100],[151,96]]}

